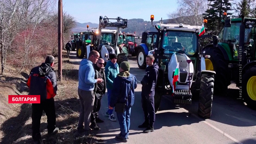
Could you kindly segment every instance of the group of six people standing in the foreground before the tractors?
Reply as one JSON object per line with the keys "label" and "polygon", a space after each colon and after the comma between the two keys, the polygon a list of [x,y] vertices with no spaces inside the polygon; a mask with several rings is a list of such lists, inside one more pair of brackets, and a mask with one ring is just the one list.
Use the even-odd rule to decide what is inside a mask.
{"label": "group of six people standing in the foreground before the tractors", "polygon": [[[115,107],[116,118],[119,122],[120,133],[117,141],[127,142],[129,139],[131,107],[134,104],[134,90],[137,88],[137,78],[131,74],[130,63],[124,61],[117,64],[117,55],[110,54],[110,60],[104,67],[104,59],[99,58],[97,51],[91,51],[88,59],[83,59],[79,66],[79,95],[81,109],[77,133],[88,136],[91,130],[99,130],[98,123],[104,123],[99,118],[101,99],[107,90],[109,109],[105,113],[109,120],[116,121],[113,114]],[[139,128],[145,128],[144,133],[154,131],[155,109],[154,94],[158,75],[158,66],[154,56],[146,57],[145,75],[141,81],[142,109],[145,120]],[[57,94],[56,74],[53,71],[54,57],[47,56],[45,62],[31,70],[27,85],[29,95],[40,95],[40,103],[32,104],[32,139],[40,143],[40,119],[42,112],[47,116],[48,134],[56,134],[54,97]],[[91,125],[90,125],[91,123]]]}

